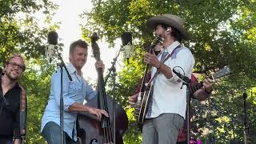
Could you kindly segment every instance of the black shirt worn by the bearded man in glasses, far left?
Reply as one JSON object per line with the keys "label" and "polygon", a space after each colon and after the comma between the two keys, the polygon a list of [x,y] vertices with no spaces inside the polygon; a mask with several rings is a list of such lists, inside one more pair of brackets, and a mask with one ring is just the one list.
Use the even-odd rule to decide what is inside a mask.
{"label": "black shirt worn by the bearded man in glasses, far left", "polygon": [[22,89],[17,83],[2,95],[2,86],[0,86],[0,138],[13,138],[13,136],[15,139],[21,138],[19,118],[21,92]]}

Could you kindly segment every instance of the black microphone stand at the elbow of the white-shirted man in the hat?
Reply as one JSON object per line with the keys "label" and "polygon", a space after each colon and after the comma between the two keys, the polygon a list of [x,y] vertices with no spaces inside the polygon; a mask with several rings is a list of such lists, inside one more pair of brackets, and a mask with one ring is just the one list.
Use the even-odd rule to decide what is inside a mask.
{"label": "black microphone stand at the elbow of the white-shirted man in the hat", "polygon": [[[175,68],[175,67],[174,67]],[[190,144],[190,78],[180,74],[178,71],[173,69],[174,74],[178,78],[182,79],[182,86],[186,86],[186,143]],[[182,89],[182,87],[181,87]]]}

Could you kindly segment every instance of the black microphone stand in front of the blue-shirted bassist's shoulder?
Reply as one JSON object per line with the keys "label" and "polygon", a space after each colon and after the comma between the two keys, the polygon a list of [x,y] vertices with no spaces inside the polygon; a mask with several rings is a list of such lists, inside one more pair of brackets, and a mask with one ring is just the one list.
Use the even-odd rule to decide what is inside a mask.
{"label": "black microphone stand in front of the blue-shirted bassist's shoulder", "polygon": [[[56,48],[56,50],[58,51],[58,49]],[[58,53],[58,52],[57,52]],[[57,65],[60,67],[60,71],[61,71],[61,94],[60,94],[60,124],[61,124],[61,144],[64,144],[64,126],[63,126],[63,119],[64,119],[64,102],[63,102],[63,67],[66,71],[66,74],[68,75],[70,81],[72,81],[72,78],[70,76],[69,71],[66,69],[66,65],[63,62],[62,56],[60,53],[58,53],[58,59],[61,61],[60,63],[58,63]]]}

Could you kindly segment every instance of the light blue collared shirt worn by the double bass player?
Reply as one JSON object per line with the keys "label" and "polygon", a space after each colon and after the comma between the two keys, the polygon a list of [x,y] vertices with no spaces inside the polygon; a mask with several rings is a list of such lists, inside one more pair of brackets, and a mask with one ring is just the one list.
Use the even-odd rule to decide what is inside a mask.
{"label": "light blue collared shirt worn by the double bass player", "polygon": [[[63,101],[64,101],[64,131],[77,140],[76,136],[76,118],[77,112],[70,112],[68,110],[74,102],[82,104],[84,100],[87,101],[94,98],[96,92],[87,84],[84,78],[77,74],[74,66],[69,64],[67,70],[70,73],[72,81],[68,78],[66,70],[63,70]],[[61,73],[57,70],[51,77],[51,88],[48,104],[42,116],[41,131],[47,122],[55,122],[60,126],[60,94],[61,94]],[[73,134],[74,133],[74,137]]]}

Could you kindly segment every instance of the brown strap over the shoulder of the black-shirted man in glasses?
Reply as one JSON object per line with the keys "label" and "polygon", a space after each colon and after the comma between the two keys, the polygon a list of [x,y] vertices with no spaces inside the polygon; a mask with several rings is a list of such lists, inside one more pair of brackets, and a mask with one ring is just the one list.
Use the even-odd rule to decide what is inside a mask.
{"label": "brown strap over the shoulder of the black-shirted man in glasses", "polygon": [[20,133],[22,136],[22,141],[25,140],[26,136],[26,90],[19,86],[22,89],[20,97],[20,113],[19,113],[19,122],[20,122]]}

